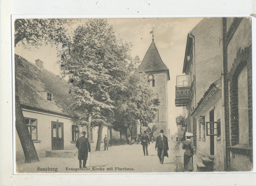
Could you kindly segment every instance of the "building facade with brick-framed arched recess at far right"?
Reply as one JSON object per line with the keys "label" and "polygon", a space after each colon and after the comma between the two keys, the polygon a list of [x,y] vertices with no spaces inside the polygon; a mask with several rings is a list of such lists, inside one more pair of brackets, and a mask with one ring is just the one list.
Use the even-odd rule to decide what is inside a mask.
{"label": "building facade with brick-framed arched recess at far right", "polygon": [[223,18],[227,167],[253,169],[252,29],[250,17]]}

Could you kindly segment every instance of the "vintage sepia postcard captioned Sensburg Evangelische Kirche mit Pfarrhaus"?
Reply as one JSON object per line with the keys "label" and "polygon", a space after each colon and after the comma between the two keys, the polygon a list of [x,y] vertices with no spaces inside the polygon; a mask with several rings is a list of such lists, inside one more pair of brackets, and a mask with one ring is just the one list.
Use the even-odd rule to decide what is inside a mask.
{"label": "vintage sepia postcard captioned Sensburg Evangelische Kirche mit Pfarrhaus", "polygon": [[13,21],[16,173],[253,170],[250,17]]}

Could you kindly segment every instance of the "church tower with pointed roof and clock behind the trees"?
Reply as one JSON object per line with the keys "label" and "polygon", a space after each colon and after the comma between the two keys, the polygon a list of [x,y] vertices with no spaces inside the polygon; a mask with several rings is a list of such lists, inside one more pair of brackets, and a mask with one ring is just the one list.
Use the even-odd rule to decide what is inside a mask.
{"label": "church tower with pointed roof and clock behind the trees", "polygon": [[160,130],[163,129],[164,135],[170,139],[168,130],[167,89],[167,81],[170,80],[170,74],[169,69],[163,63],[159,55],[157,46],[154,43],[154,38],[137,71],[147,74],[148,84],[152,87],[155,98],[160,101],[160,105],[155,107],[157,109],[156,117],[153,123],[149,124],[149,127],[151,128],[153,125],[156,125],[157,131],[154,133],[155,137],[157,137]]}

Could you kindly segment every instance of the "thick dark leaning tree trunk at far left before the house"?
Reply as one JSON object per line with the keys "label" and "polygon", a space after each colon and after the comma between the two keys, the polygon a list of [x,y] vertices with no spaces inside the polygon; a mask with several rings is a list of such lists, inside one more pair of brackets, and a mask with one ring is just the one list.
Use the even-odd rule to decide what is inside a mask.
{"label": "thick dark leaning tree trunk at far left before the house", "polygon": [[35,145],[29,134],[25,119],[20,107],[19,96],[15,95],[15,128],[25,155],[25,163],[39,162]]}

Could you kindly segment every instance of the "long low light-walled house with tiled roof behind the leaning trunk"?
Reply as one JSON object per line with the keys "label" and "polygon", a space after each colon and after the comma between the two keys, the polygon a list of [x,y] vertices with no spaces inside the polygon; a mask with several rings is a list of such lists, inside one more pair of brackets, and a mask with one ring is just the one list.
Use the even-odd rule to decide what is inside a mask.
{"label": "long low light-walled house with tiled roof behind the leaning trunk", "polygon": [[[41,60],[33,64],[19,55],[15,55],[15,76],[20,106],[38,157],[52,156],[56,151],[55,154],[63,152],[62,157],[76,156],[76,140],[87,128],[76,125],[77,113],[64,109],[72,103],[72,84],[44,69]],[[109,135],[108,127],[103,127],[102,134]],[[93,150],[98,127],[89,131]],[[22,160],[24,154],[17,131],[15,136],[16,160]]]}

